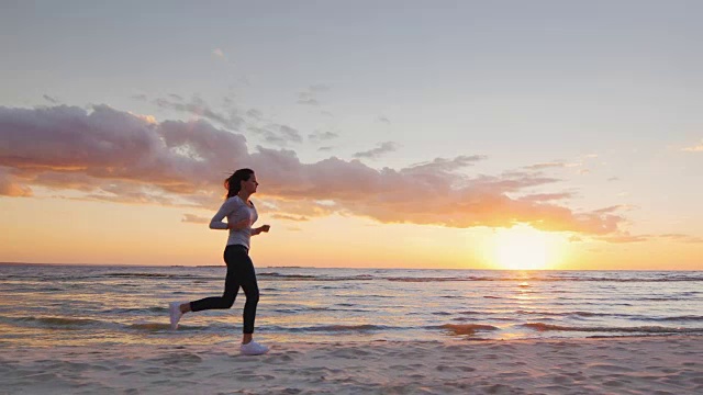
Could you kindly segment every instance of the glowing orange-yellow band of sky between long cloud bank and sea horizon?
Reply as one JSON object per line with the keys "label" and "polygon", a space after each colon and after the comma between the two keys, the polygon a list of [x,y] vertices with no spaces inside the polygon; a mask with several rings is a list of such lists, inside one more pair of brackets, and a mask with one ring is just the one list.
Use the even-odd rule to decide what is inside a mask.
{"label": "glowing orange-yellow band of sky between long cloud bank and sea horizon", "polygon": [[[2,223],[15,224],[0,239],[2,261],[222,264],[225,232],[209,229],[207,224],[182,222],[181,208],[33,198],[2,198],[0,202],[7,208],[0,215]],[[26,212],[22,208],[24,204],[41,206],[42,211],[20,217],[19,213]],[[511,230],[381,224],[343,216],[291,223],[267,221],[267,213],[259,211],[260,224],[272,227],[268,235],[253,238],[252,256],[258,267],[701,270],[703,252],[700,244],[691,242],[569,241],[569,235],[542,233],[549,238],[544,264],[521,267],[518,262],[510,267],[496,255],[516,247],[501,242],[520,242],[521,234],[540,232],[525,226]],[[522,229],[517,238],[498,236],[515,229]]]}

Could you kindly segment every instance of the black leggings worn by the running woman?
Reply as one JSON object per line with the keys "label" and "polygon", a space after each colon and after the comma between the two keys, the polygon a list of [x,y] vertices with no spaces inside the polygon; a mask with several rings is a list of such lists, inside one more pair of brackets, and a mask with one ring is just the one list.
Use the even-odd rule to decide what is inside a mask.
{"label": "black leggings worn by the running woman", "polygon": [[256,284],[254,263],[246,247],[239,245],[227,246],[224,249],[224,261],[227,263],[227,276],[224,280],[224,293],[222,296],[211,296],[190,302],[190,309],[201,312],[214,308],[230,308],[237,297],[239,286],[242,286],[246,295],[243,331],[244,334],[254,334],[256,305],[259,302],[259,287]]}

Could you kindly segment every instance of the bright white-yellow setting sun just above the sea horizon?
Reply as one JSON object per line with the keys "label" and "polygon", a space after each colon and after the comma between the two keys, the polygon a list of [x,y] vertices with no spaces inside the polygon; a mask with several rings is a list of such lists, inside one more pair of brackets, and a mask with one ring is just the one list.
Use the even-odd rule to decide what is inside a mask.
{"label": "bright white-yellow setting sun just above the sea horizon", "polygon": [[529,226],[499,229],[494,237],[494,262],[498,267],[510,270],[547,269],[550,245],[546,233]]}

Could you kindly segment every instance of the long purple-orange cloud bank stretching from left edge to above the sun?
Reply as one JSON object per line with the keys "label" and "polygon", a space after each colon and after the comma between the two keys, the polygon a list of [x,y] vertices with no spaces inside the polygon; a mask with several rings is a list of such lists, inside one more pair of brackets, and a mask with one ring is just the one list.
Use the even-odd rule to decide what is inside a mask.
{"label": "long purple-orange cloud bank stretching from left edge to above the sun", "polygon": [[[222,202],[223,180],[248,167],[261,182],[257,199],[274,207],[268,215],[337,213],[457,228],[524,223],[614,237],[625,222],[621,206],[576,212],[554,203],[558,193],[526,193],[558,179],[459,171],[482,156],[437,158],[401,169],[373,169],[335,157],[304,163],[289,149],[250,150],[243,135],[205,120],[147,119],[107,105],[90,111],[0,106],[0,193],[26,196],[42,187],[71,199],[214,210]],[[383,145],[379,148],[384,151]]]}

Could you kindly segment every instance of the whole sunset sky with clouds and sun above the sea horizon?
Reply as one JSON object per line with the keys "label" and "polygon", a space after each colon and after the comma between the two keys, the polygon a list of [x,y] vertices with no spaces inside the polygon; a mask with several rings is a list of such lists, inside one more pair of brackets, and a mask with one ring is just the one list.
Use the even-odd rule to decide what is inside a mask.
{"label": "whole sunset sky with clouds and sun above the sea horizon", "polygon": [[703,270],[703,2],[0,8],[0,261]]}

